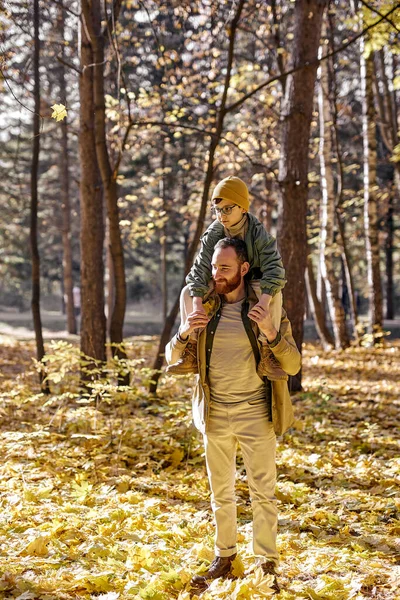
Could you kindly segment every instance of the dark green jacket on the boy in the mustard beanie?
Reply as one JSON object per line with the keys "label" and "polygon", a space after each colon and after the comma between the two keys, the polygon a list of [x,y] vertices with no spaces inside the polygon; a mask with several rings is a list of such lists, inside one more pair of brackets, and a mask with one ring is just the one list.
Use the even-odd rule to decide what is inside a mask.
{"label": "dark green jacket on the boy in the mustard beanie", "polygon": [[[276,240],[254,215],[247,215],[249,227],[244,241],[250,263],[250,279],[260,279],[261,293],[275,296],[286,283],[285,269]],[[186,277],[191,296],[204,298],[209,291],[214,247],[224,237],[224,226],[219,221],[214,221],[201,237],[200,251]]]}

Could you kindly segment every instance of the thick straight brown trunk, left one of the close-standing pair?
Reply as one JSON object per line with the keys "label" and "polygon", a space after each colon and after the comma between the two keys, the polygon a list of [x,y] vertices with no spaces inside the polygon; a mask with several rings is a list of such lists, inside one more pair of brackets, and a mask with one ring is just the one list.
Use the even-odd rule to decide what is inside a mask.
{"label": "thick straight brown trunk, left one of the close-standing pair", "polygon": [[[83,2],[82,2],[83,4]],[[88,5],[90,13],[93,4]],[[95,18],[95,16],[94,16]],[[82,15],[82,19],[84,16]],[[94,135],[93,65],[95,57],[87,23],[81,27],[79,150],[81,161],[81,350],[95,361],[106,359],[104,314],[104,218],[101,180]]]}

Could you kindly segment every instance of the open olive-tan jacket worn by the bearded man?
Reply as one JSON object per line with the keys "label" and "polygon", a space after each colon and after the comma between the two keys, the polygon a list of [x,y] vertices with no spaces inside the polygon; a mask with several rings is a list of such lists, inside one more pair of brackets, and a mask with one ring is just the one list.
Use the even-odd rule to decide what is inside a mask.
{"label": "open olive-tan jacket worn by the bearded man", "polygon": [[[247,286],[246,296],[247,308],[250,309],[257,303],[257,297],[252,288]],[[212,300],[211,300],[212,301]],[[207,306],[208,304],[208,306]],[[220,308],[219,296],[216,302],[210,305],[206,303],[205,308],[209,315],[213,317],[218,314]],[[247,316],[247,311],[246,311]],[[242,313],[243,319],[243,313]],[[257,339],[258,329],[254,321],[248,319],[253,329],[254,337]],[[243,320],[247,335],[252,342],[252,335],[248,331],[248,324]],[[212,351],[212,343],[210,344],[209,327],[203,329],[199,335],[197,344],[197,362],[199,367],[199,375],[196,375],[196,384],[192,396],[192,415],[195,427],[201,432],[207,432],[209,412],[210,412],[210,385],[208,381],[207,355]],[[177,335],[167,344],[165,348],[165,358],[167,364],[175,363],[186,347],[187,342],[182,342]],[[252,344],[253,345],[253,344]],[[290,321],[287,318],[286,312],[282,309],[281,326],[277,340],[270,344],[270,348],[276,359],[279,361],[282,369],[288,375],[295,375],[301,366],[301,355],[297,349],[296,342],[292,336],[292,328]],[[210,352],[208,352],[210,350]],[[232,366],[234,368],[234,365]],[[269,386],[266,386],[266,390]],[[271,381],[272,397],[271,397],[271,417],[276,435],[282,435],[293,425],[294,415],[292,402],[290,399],[287,381]],[[267,397],[268,399],[268,397]]]}

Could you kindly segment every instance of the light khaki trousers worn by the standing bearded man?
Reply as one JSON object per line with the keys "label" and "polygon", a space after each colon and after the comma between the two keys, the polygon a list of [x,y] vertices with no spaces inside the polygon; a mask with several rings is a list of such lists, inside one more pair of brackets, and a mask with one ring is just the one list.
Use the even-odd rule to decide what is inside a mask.
{"label": "light khaki trousers worn by the standing bearded man", "polygon": [[278,564],[276,437],[264,400],[226,404],[212,402],[204,435],[211,506],[216,523],[215,554],[236,552],[236,449],[239,443],[253,510],[253,552],[260,562]]}

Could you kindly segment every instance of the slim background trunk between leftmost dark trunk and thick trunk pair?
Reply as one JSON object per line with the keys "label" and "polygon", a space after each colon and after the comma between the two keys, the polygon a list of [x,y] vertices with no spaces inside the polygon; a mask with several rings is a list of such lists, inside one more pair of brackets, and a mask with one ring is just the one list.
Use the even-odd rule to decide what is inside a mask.
{"label": "slim background trunk between leftmost dark trunk and thick trunk pair", "polygon": [[[58,10],[58,31],[61,36],[61,59],[65,60],[64,52],[64,9],[63,3]],[[67,88],[65,85],[65,67],[63,63],[59,66],[60,98],[64,106],[67,106]],[[71,207],[69,201],[69,155],[68,155],[68,121],[65,118],[61,123],[61,202],[62,202],[62,246],[63,246],[63,284],[65,309],[67,313],[67,331],[76,333],[76,318],[74,310],[74,296],[72,293],[72,246],[71,246]]]}

